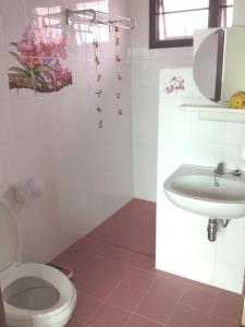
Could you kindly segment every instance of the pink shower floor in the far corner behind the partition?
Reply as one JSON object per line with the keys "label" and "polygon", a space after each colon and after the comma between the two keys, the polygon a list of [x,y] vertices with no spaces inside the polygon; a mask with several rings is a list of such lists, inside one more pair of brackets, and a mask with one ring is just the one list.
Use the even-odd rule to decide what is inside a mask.
{"label": "pink shower floor in the far corner behind the partition", "polygon": [[90,232],[87,238],[155,255],[156,204],[134,198]]}

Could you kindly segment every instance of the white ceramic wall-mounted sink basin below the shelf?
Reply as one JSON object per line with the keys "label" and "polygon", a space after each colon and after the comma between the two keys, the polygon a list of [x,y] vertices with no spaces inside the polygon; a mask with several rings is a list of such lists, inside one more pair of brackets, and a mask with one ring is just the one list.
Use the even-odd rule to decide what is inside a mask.
{"label": "white ceramic wall-mounted sink basin below the shelf", "polygon": [[183,165],[164,182],[168,198],[176,206],[212,219],[245,216],[245,175],[231,171],[217,177],[215,167]]}

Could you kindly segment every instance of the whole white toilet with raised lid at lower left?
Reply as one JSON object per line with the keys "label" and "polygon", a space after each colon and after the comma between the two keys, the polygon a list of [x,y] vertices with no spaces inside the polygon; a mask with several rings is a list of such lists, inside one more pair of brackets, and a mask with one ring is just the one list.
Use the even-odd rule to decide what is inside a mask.
{"label": "whole white toilet with raised lid at lower left", "polygon": [[20,259],[16,221],[0,202],[0,286],[8,327],[63,327],[76,304],[66,276],[47,265]]}

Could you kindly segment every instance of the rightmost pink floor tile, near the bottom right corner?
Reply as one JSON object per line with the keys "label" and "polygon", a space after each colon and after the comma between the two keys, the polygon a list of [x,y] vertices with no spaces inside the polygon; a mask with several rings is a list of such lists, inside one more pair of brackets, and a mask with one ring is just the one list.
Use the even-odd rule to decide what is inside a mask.
{"label": "rightmost pink floor tile, near the bottom right corner", "polygon": [[213,315],[234,323],[240,323],[243,298],[225,291],[220,291],[213,308]]}

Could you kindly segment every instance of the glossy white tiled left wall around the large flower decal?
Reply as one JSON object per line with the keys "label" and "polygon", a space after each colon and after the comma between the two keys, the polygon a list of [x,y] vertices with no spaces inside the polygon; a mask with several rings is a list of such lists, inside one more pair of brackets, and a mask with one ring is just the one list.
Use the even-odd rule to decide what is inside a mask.
{"label": "glossy white tiled left wall around the large flower decal", "polygon": [[[0,2],[0,189],[4,193],[29,175],[45,184],[41,198],[24,206],[11,203],[25,261],[50,259],[133,197],[130,35],[121,34],[123,114],[119,116],[114,35],[94,29],[100,40],[103,75],[103,110],[99,113],[93,35],[68,27],[63,15],[65,8],[85,7],[128,15],[121,0]],[[73,85],[50,94],[10,90],[8,69],[16,63],[9,55],[10,43],[19,41],[27,25],[42,25],[36,14],[47,12],[58,13],[58,19],[46,20],[46,25],[56,22],[68,35],[65,65]],[[100,118],[102,129],[98,129]]]}

